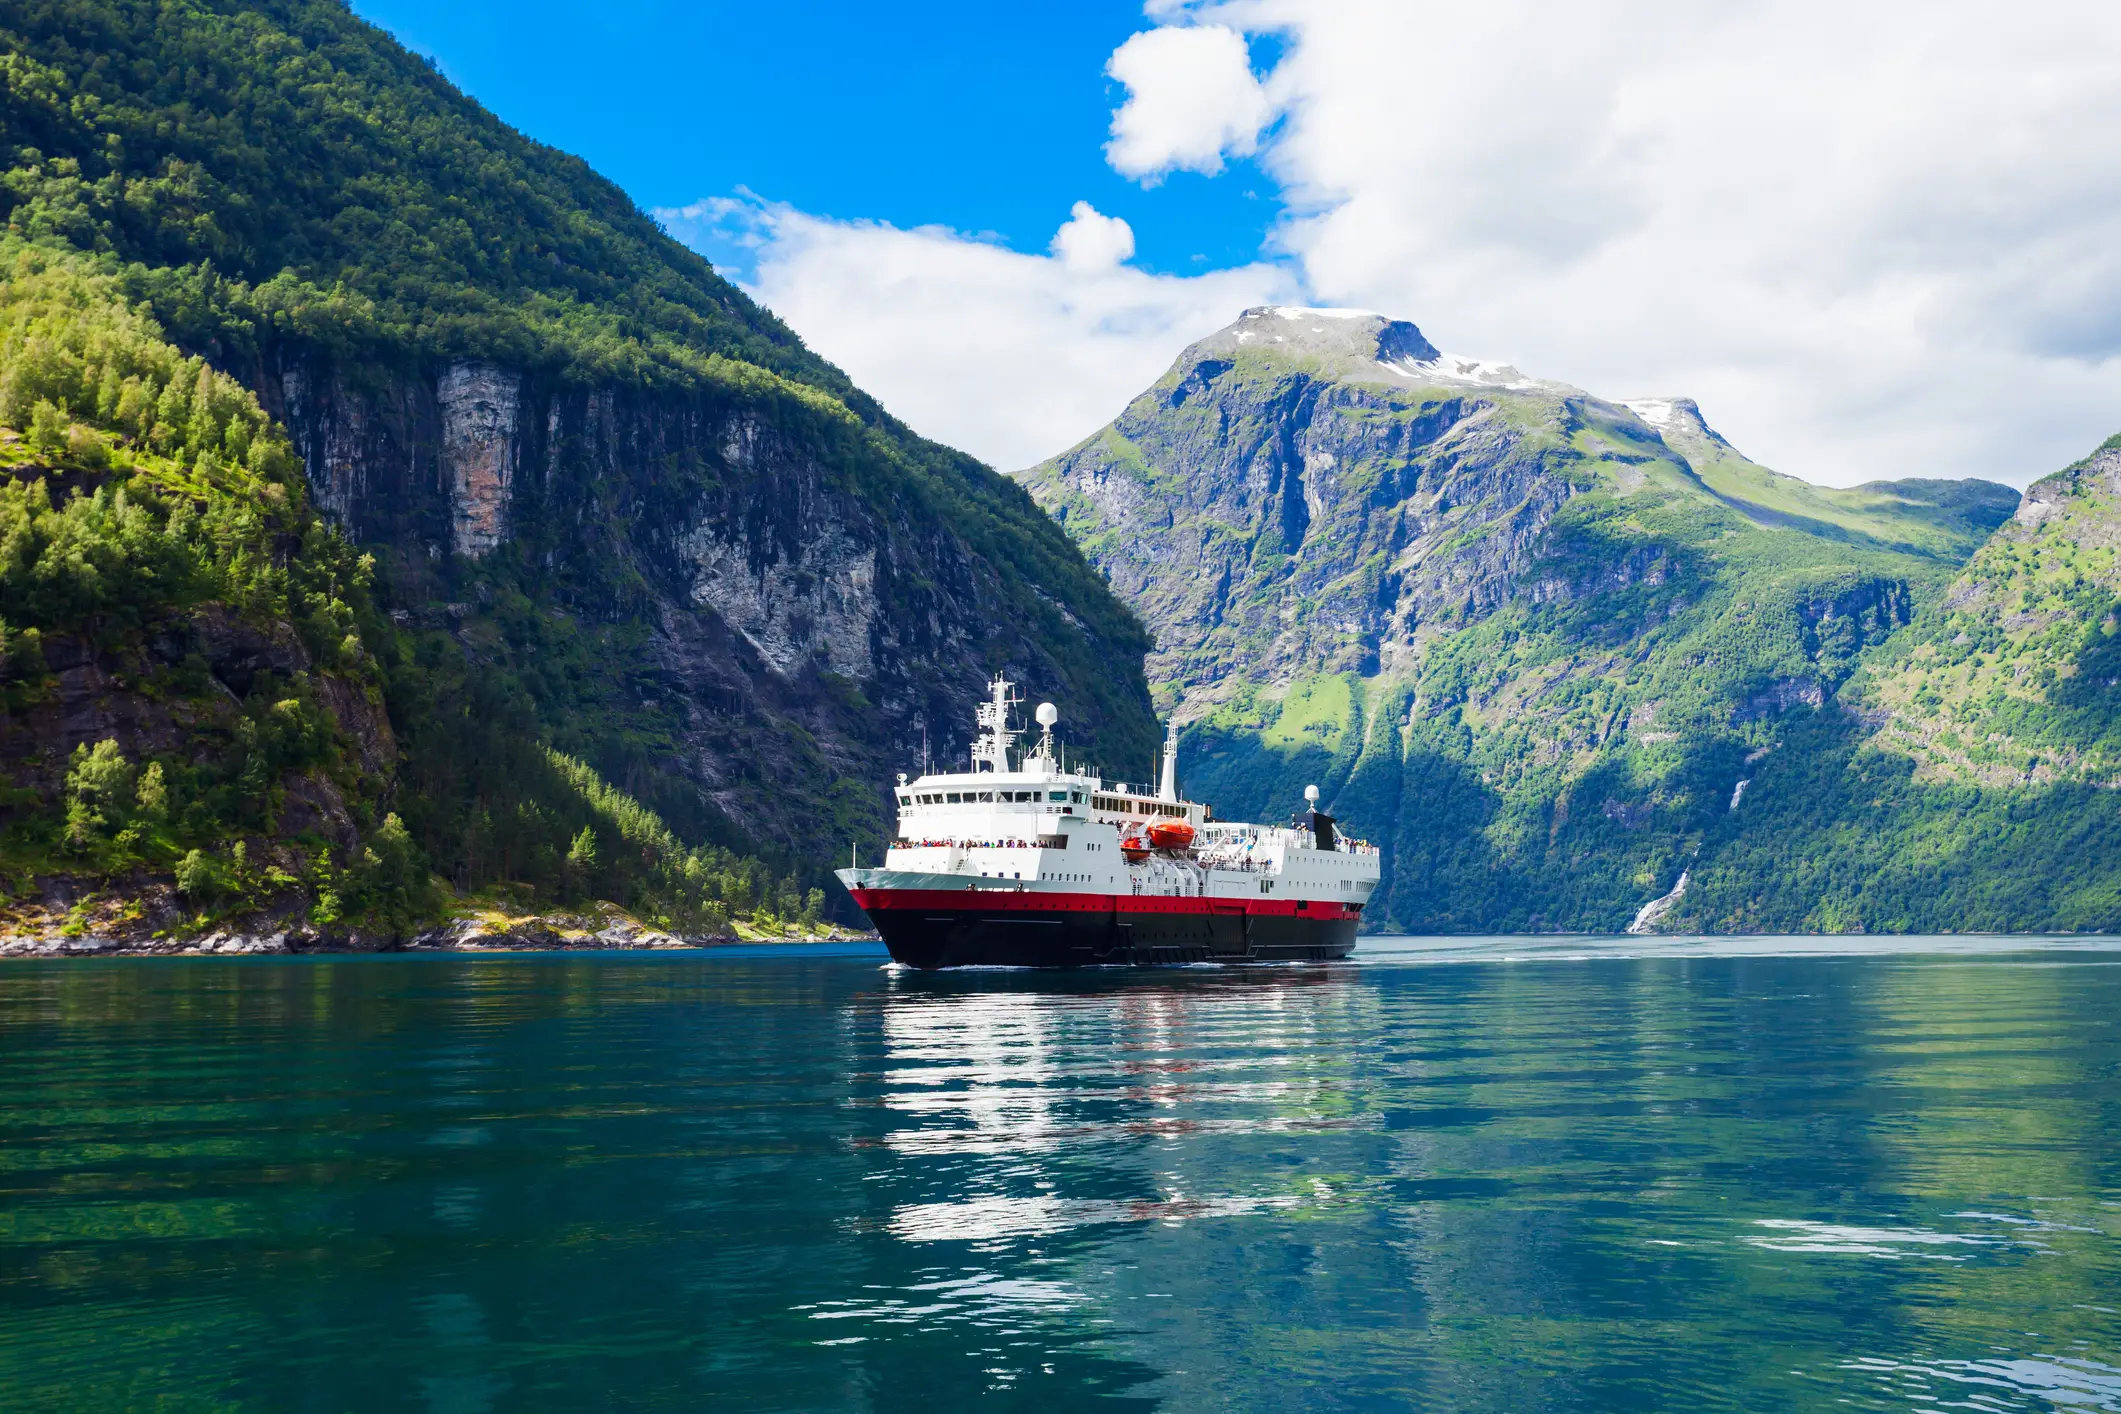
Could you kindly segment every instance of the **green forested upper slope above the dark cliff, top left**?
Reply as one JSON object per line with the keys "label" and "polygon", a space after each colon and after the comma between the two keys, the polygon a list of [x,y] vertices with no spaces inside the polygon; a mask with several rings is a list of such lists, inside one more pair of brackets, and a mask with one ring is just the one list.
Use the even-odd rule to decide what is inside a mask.
{"label": "green forested upper slope above the dark cliff, top left", "polygon": [[8,227],[138,263],[180,341],[282,333],[588,377],[770,369],[874,416],[588,163],[346,4],[17,0],[0,40]]}

